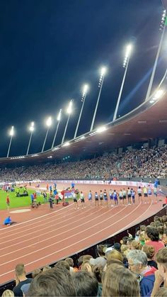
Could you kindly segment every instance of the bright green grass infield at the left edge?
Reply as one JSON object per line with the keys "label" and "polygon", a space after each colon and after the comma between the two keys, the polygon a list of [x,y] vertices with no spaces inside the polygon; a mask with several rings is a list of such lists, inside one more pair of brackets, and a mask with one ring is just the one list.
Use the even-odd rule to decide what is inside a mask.
{"label": "bright green grass infield at the left edge", "polygon": [[[10,208],[18,208],[22,206],[30,206],[31,199],[30,194],[32,194],[33,190],[28,190],[28,196],[27,197],[16,197],[15,193],[6,193],[6,191],[1,190],[0,191],[0,210],[1,209],[7,209],[6,205],[6,196],[9,196],[10,199]],[[48,196],[48,194],[47,194]],[[49,196],[48,196],[49,198]],[[43,196],[38,196],[37,201],[43,203]]]}

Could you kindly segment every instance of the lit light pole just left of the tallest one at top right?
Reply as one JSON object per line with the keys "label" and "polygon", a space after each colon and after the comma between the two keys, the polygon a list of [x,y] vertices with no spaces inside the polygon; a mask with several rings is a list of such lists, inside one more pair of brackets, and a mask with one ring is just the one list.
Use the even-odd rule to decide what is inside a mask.
{"label": "lit light pole just left of the tallest one at top right", "polygon": [[115,107],[115,113],[114,113],[114,116],[113,116],[113,121],[115,121],[116,118],[117,118],[117,111],[118,111],[118,108],[119,108],[119,105],[120,105],[122,90],[123,90],[123,87],[124,87],[124,84],[125,84],[125,78],[126,78],[126,75],[127,75],[127,68],[128,68],[128,65],[129,65],[129,57],[130,57],[131,52],[132,52],[132,45],[129,44],[129,45],[127,45],[127,48],[126,48],[125,60],[124,60],[124,63],[123,63],[123,67],[125,68],[125,72],[124,72],[124,76],[123,76],[123,79],[122,79],[122,84],[120,86],[120,93],[119,93],[118,98],[117,98],[117,105]]}

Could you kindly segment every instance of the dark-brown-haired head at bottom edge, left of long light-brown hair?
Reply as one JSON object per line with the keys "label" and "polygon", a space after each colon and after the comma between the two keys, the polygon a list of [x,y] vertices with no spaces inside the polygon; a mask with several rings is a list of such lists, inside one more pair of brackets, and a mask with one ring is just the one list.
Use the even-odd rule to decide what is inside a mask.
{"label": "dark-brown-haired head at bottom edge, left of long light-brown hair", "polygon": [[78,271],[71,275],[76,288],[76,296],[97,296],[98,280],[93,273],[88,271]]}

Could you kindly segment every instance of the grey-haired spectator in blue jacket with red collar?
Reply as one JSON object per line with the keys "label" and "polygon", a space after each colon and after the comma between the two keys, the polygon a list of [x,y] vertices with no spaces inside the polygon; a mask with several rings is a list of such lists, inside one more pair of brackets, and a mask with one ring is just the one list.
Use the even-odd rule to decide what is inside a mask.
{"label": "grey-haired spectator in blue jacket with red collar", "polygon": [[146,296],[154,286],[154,272],[156,269],[147,265],[147,257],[141,250],[131,250],[127,254],[129,269],[137,274],[139,280],[140,294]]}

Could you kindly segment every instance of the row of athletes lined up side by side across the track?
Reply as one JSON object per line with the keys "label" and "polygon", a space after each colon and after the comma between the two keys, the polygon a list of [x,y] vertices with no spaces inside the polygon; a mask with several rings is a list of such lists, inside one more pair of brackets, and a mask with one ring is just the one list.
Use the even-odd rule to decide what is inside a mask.
{"label": "row of athletes lined up side by side across the track", "polygon": [[[120,200],[120,204],[122,205],[131,205],[135,203],[135,196],[136,194],[138,195],[138,200],[139,203],[151,203],[151,195],[152,195],[152,190],[151,187],[146,187],[144,186],[143,190],[141,189],[141,187],[139,186],[137,189],[137,192],[134,191],[134,189],[130,189],[127,188],[127,190],[124,188],[123,190],[120,189],[120,192],[117,193],[116,190],[112,191],[112,189],[110,189],[109,191],[109,198],[110,198],[110,206],[118,206],[118,200]],[[144,201],[143,201],[143,194],[144,194]],[[157,199],[157,188],[154,187],[154,196]],[[74,192],[73,194],[73,198],[74,198],[74,208],[79,208],[78,205],[78,200],[81,200],[81,207],[85,208],[84,204],[85,204],[85,197],[83,192],[79,192],[78,190],[76,190],[76,192]],[[88,192],[88,201],[90,203],[90,205],[92,206],[92,201],[93,201],[93,194],[92,191],[90,190]],[[94,194],[94,201],[95,201],[95,206],[99,206],[99,201],[100,201],[100,206],[109,206],[108,203],[108,193],[106,190],[102,191],[100,190],[100,193],[98,194],[98,192],[95,192]],[[122,201],[122,202],[121,202]],[[156,200],[156,202],[158,202]]]}

